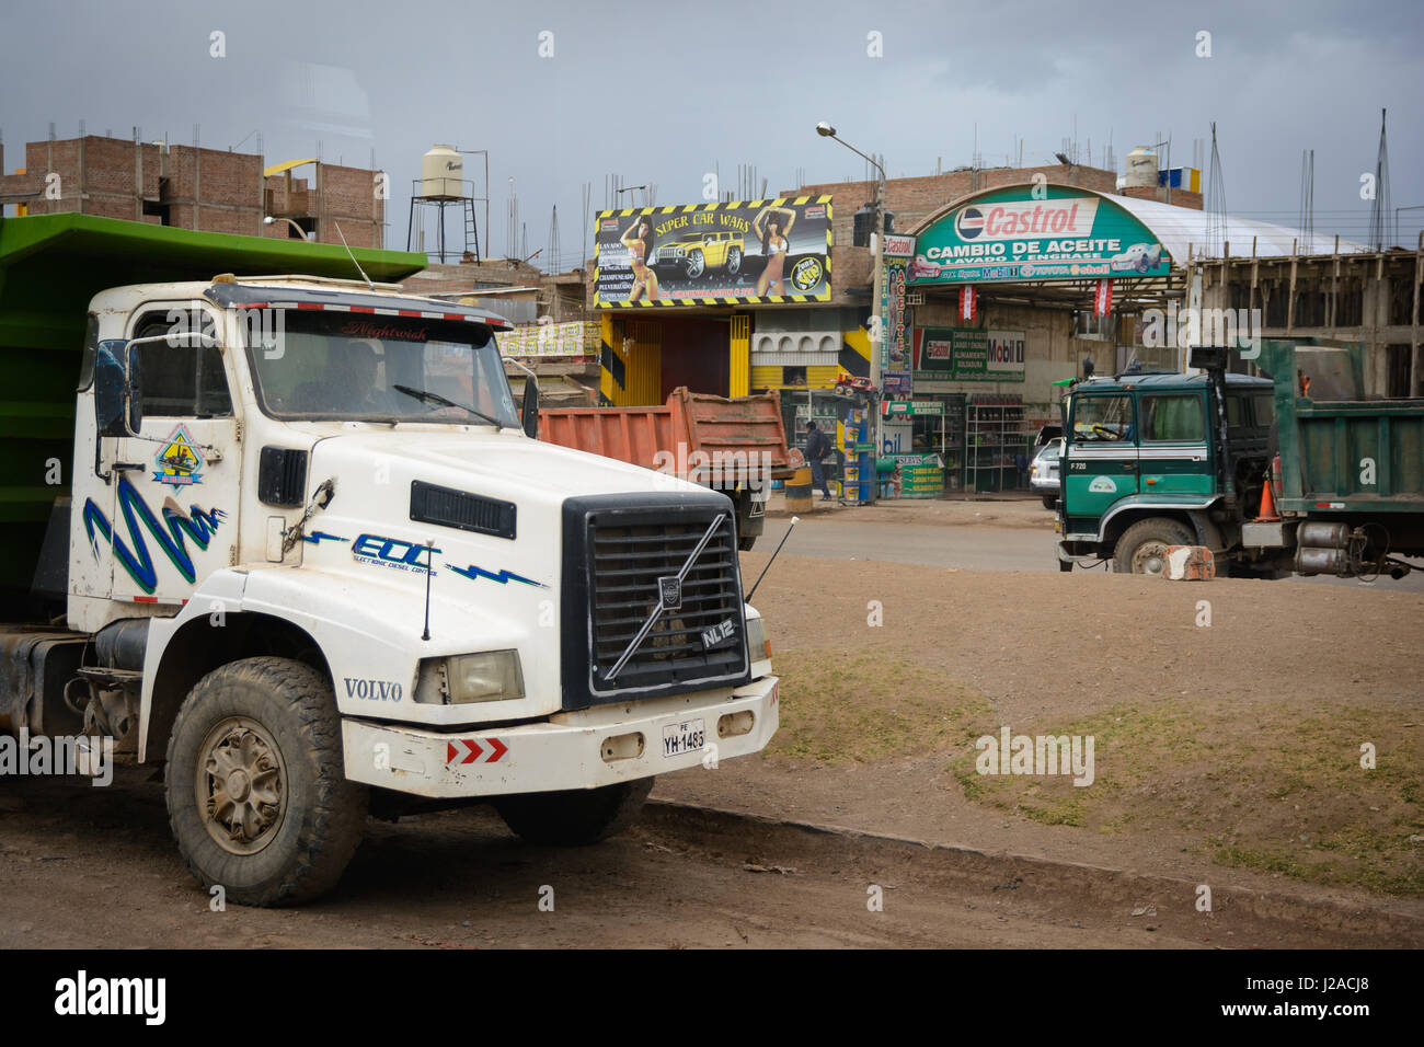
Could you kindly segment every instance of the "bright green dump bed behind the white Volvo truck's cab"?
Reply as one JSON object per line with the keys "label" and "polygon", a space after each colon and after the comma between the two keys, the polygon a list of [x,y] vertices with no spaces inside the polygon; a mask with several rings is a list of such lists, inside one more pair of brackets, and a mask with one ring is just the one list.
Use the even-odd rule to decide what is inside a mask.
{"label": "bright green dump bed behind the white Volvo truck's cab", "polygon": [[[376,281],[426,256],[355,249]],[[28,585],[50,507],[68,493],[85,311],[105,288],[302,274],[357,278],[340,245],[192,232],[93,215],[0,218],[0,585]],[[46,483],[58,459],[63,483]]]}

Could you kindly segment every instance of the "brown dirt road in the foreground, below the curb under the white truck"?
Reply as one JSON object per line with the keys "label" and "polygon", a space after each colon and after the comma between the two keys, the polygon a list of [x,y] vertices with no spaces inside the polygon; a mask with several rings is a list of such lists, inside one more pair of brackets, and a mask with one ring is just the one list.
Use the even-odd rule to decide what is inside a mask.
{"label": "brown dirt road in the foreground, below the curb under the white truck", "polygon": [[373,822],[326,897],[221,909],[150,778],[6,783],[0,949],[1401,947],[1424,926],[1230,887],[1202,912],[1190,882],[666,803],[580,849],[527,846],[486,808]]}

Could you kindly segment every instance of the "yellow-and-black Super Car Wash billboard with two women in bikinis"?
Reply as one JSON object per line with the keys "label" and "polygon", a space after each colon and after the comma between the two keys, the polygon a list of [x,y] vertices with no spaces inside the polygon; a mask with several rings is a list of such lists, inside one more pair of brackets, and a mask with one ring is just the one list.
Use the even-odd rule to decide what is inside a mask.
{"label": "yellow-and-black Super Car Wash billboard with two women in bikinis", "polygon": [[600,211],[594,306],[830,301],[830,197]]}

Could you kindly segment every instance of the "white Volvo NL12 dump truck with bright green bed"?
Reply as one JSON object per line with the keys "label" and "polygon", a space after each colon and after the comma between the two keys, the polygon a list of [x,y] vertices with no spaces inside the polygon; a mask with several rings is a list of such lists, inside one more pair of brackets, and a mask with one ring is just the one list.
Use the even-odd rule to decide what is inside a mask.
{"label": "white Volvo NL12 dump truck with bright green bed", "polygon": [[0,731],[162,765],[245,905],[329,889],[369,813],[602,839],[778,725],[732,503],[534,439],[504,321],[357,261],[424,262],[0,219]]}

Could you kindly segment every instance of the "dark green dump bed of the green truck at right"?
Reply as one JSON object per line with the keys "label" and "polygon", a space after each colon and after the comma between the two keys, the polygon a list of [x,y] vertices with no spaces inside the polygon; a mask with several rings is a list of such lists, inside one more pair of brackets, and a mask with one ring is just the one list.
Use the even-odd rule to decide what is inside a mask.
{"label": "dark green dump bed of the green truck at right", "polygon": [[1360,397],[1358,346],[1265,342],[1257,363],[1276,383],[1277,509],[1424,513],[1424,400]]}

